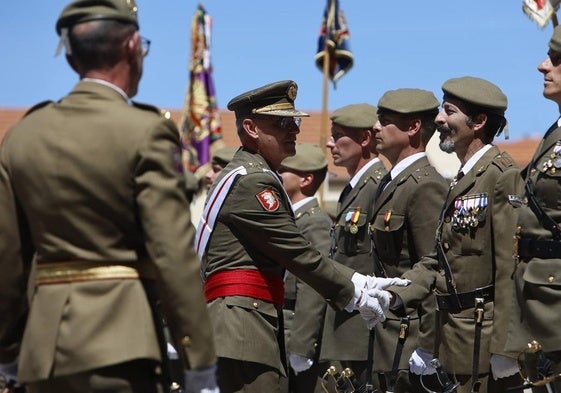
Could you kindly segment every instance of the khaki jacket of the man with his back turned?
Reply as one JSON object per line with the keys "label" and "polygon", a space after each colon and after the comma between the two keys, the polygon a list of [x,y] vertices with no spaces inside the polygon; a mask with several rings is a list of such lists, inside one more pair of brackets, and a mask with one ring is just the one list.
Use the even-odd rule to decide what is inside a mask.
{"label": "khaki jacket of the man with his back turned", "polygon": [[19,353],[22,382],[160,359],[138,279],[42,285],[28,310],[34,253],[40,263],[143,261],[161,289],[180,357],[193,368],[216,361],[179,157],[172,122],[95,82],[78,83],[7,133],[0,148],[0,362]]}

